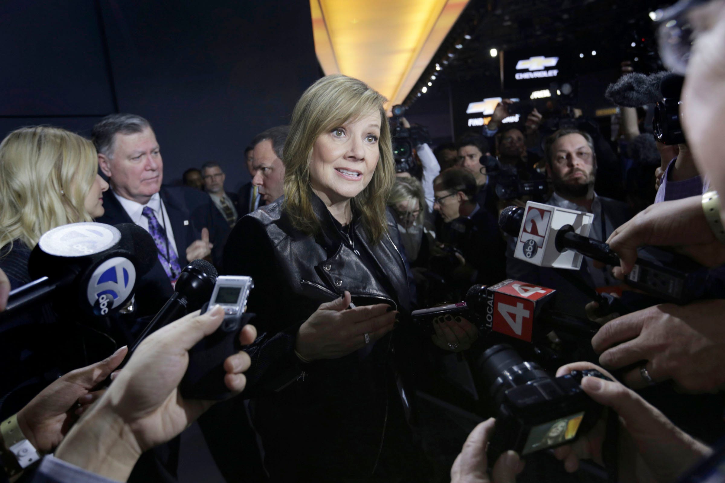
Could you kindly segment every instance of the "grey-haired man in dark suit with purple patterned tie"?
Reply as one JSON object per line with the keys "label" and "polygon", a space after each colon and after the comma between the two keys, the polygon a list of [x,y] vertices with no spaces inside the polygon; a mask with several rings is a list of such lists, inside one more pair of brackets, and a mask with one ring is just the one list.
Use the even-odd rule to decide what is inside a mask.
{"label": "grey-haired man in dark suit with purple patterned tie", "polygon": [[209,257],[213,261],[221,253],[225,232],[219,226],[228,230],[228,225],[207,194],[162,186],[159,143],[143,117],[111,114],[94,126],[92,137],[99,166],[111,186],[104,193],[106,212],[97,221],[136,223],[157,245],[157,264],[136,290],[137,316],[155,314],[189,261]]}

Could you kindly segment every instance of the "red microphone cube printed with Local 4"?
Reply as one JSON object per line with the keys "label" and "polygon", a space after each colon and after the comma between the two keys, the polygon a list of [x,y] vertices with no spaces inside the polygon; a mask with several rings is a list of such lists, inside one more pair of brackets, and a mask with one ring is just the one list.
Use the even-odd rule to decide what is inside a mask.
{"label": "red microphone cube printed with Local 4", "polygon": [[485,327],[530,343],[534,320],[555,292],[552,288],[512,279],[487,287]]}

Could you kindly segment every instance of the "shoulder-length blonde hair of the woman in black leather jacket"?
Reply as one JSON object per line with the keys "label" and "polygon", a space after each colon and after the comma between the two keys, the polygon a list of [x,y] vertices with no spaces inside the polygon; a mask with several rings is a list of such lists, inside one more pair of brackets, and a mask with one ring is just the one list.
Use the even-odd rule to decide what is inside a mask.
{"label": "shoulder-length blonde hair of the woman in black leather jacket", "polygon": [[377,243],[387,232],[386,200],[395,179],[395,161],[390,126],[383,109],[386,98],[360,80],[335,74],[321,78],[307,88],[292,112],[289,135],[284,143],[283,208],[298,230],[314,235],[320,220],[312,210],[310,159],[317,138],[351,119],[380,114],[380,159],[368,186],[352,206],[360,214],[370,240]]}

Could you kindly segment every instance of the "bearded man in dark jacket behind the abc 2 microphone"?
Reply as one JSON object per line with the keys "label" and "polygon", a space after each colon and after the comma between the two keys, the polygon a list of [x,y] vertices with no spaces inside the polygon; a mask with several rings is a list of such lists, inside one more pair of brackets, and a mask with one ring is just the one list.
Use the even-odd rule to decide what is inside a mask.
{"label": "bearded man in dark jacket behind the abc 2 microphone", "polygon": [[[577,211],[587,211],[594,215],[590,238],[607,240],[609,235],[621,224],[631,218],[626,203],[597,196],[594,185],[597,175],[597,156],[592,137],[577,130],[558,130],[547,138],[545,143],[546,169],[554,185],[548,204]],[[513,257],[516,240],[509,243],[506,261],[506,274],[509,278],[529,282],[534,285],[554,288],[566,294],[555,299],[555,309],[573,316],[586,317],[584,306],[591,301],[578,288],[574,287],[571,277],[564,278],[557,270],[542,268]],[[620,285],[604,268],[594,266],[592,259],[585,258],[579,272],[571,272],[588,285],[600,291],[613,291]]]}

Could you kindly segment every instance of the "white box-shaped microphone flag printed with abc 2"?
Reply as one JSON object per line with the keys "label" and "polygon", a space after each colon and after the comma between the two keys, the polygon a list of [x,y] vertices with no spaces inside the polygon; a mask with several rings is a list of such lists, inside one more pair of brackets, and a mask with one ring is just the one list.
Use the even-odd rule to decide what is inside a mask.
{"label": "white box-shaped microphone flag printed with abc 2", "polygon": [[534,201],[526,203],[524,210],[513,256],[538,266],[579,270],[584,256],[572,250],[558,251],[556,234],[571,224],[577,234],[588,236],[594,215]]}

